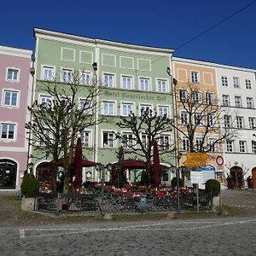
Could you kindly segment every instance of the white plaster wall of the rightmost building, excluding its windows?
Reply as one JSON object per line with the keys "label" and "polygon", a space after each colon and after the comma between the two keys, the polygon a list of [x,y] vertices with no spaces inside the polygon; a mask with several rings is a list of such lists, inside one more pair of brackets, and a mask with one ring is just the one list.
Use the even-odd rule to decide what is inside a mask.
{"label": "white plaster wall of the rightmost building, excluding its windows", "polygon": [[[256,120],[256,83],[255,83],[255,70],[230,67],[224,65],[216,65],[216,75],[218,84],[218,97],[221,108],[227,109],[227,113],[232,119],[232,129],[236,131],[236,137],[232,138],[232,152],[228,152],[226,145],[224,145],[224,170],[227,175],[230,174],[230,169],[241,167],[244,180],[252,175],[253,167],[256,166],[256,152],[253,152],[252,142],[256,141],[253,136],[256,128],[250,127],[249,118]],[[228,81],[227,86],[222,83],[222,77]],[[234,87],[233,78],[239,79],[239,87]],[[250,80],[251,88],[248,89],[246,80]],[[229,96],[230,104],[224,107],[223,96]],[[235,97],[241,97],[241,107],[236,106]],[[247,98],[253,99],[253,107],[247,107]],[[242,118],[242,127],[238,128],[236,117]],[[254,124],[256,125],[256,123]],[[245,142],[245,152],[241,152],[240,141]]]}

